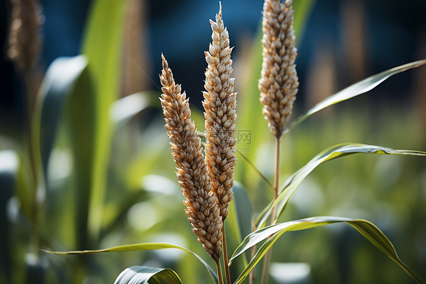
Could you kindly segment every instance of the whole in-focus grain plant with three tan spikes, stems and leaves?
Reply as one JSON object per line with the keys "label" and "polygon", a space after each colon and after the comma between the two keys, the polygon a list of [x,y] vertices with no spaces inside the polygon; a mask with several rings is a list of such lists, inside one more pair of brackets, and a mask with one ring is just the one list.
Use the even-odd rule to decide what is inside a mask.
{"label": "whole in-focus grain plant with three tan spikes, stems and leaves", "polygon": [[[424,159],[426,156],[426,152],[423,151],[397,150],[363,143],[342,143],[323,150],[293,174],[285,173],[288,178],[284,182],[280,182],[280,175],[284,175],[280,169],[281,142],[285,134],[291,129],[326,107],[364,94],[390,76],[426,63],[426,59],[423,59],[374,74],[330,95],[309,109],[305,114],[291,120],[293,104],[299,88],[299,78],[295,64],[297,57],[296,36],[293,30],[294,17],[298,14],[293,10],[293,5],[297,12],[297,8],[302,5],[300,4],[301,2],[303,1],[295,1],[293,3],[293,0],[265,0],[263,6],[262,54],[259,52],[257,55],[259,58],[262,56],[262,70],[260,74],[256,74],[256,79],[260,78],[259,81],[254,79],[252,82],[257,84],[258,88],[254,87],[256,99],[249,102],[249,104],[258,104],[258,114],[263,114],[265,117],[267,127],[272,136],[270,136],[262,116],[257,119],[260,120],[259,122],[254,121],[250,115],[243,114],[249,126],[260,125],[260,123],[265,124],[265,132],[262,132],[259,137],[264,140],[268,138],[274,139],[274,154],[271,157],[264,157],[264,154],[262,156],[266,161],[271,161],[270,164],[273,164],[271,168],[273,167],[274,171],[273,174],[270,174],[271,176],[273,175],[273,182],[269,180],[271,176],[262,173],[257,168],[256,163],[250,160],[250,157],[237,151],[236,129],[237,125],[241,127],[241,124],[237,124],[237,94],[234,92],[234,78],[231,77],[233,71],[231,53],[233,48],[230,47],[228,30],[222,19],[220,2],[215,20],[210,20],[212,42],[208,47],[208,51],[204,53],[207,62],[205,91],[203,92],[204,101],[202,102],[206,128],[204,133],[200,133],[197,130],[195,122],[191,118],[189,98],[185,92],[182,92],[181,85],[176,84],[171,68],[161,54],[162,71],[160,83],[162,85],[162,94],[160,94],[160,104],[162,114],[165,116],[165,128],[170,139],[171,154],[177,165],[175,171],[177,182],[185,198],[183,201],[186,207],[184,212],[192,225],[192,231],[197,235],[198,241],[215,262],[217,274],[203,257],[185,247],[163,242],[144,242],[90,251],[43,251],[56,254],[90,254],[174,248],[190,253],[200,260],[216,284],[240,284],[246,280],[250,284],[267,284],[269,274],[273,268],[270,265],[272,246],[281,235],[288,231],[344,223],[354,227],[417,283],[426,284],[418,273],[401,261],[395,247],[385,234],[367,220],[335,216],[308,218],[303,216],[302,219],[287,222],[280,220],[289,204],[289,199],[302,181],[325,162],[357,153],[411,155],[417,156],[417,159]],[[103,2],[100,1],[100,3]],[[296,31],[298,31],[297,27]],[[258,41],[257,43],[260,47],[260,42]],[[9,53],[13,54],[14,51],[11,50]],[[242,60],[246,60],[246,58]],[[26,59],[25,62],[28,63],[30,61]],[[169,61],[172,62],[170,57]],[[170,65],[173,65],[173,63]],[[88,66],[90,67],[90,64]],[[83,72],[85,67],[86,65],[81,66],[81,72]],[[238,82],[238,78],[236,82]],[[242,102],[247,102],[244,101],[244,96],[247,96],[247,94],[238,94],[238,100],[241,98]],[[157,100],[156,104],[158,107]],[[261,108],[263,108],[262,114]],[[241,114],[239,114],[239,117],[242,116]],[[246,121],[243,120],[242,122]],[[205,141],[202,141],[200,137],[205,137]],[[303,151],[306,151],[306,148],[300,147],[303,148]],[[259,148],[253,150],[259,151]],[[285,149],[285,151],[286,153],[291,153],[295,150]],[[237,156],[239,159],[238,166]],[[286,157],[291,156],[287,155]],[[144,156],[144,158],[146,157]],[[415,158],[413,157],[412,159]],[[259,205],[262,202],[256,200],[257,207],[264,207],[263,210],[259,210],[259,213],[255,214],[253,210],[254,197],[249,196],[246,191],[247,184],[234,181],[234,168],[239,168],[240,165],[246,166],[245,168],[242,167],[244,170],[248,169],[247,171],[251,170],[251,172],[259,174],[257,179],[255,179],[257,181],[253,181],[259,189],[266,192],[263,187],[269,186],[273,191],[273,195],[270,192],[269,196],[271,198],[268,200],[269,203],[267,205]],[[269,164],[266,167],[269,167]],[[166,173],[164,174],[166,175]],[[246,173],[246,175],[248,174]],[[252,181],[251,176],[248,179]],[[233,203],[229,207],[231,201]],[[232,208],[233,206],[235,207]],[[155,210],[154,208],[152,209]],[[289,215],[286,217],[289,217]],[[228,220],[226,223],[228,227],[233,226],[234,228],[229,235],[225,234],[225,220]],[[243,232],[244,229],[245,231]],[[101,230],[101,232],[103,231]],[[234,233],[241,233],[241,235],[234,235]],[[239,239],[239,237],[241,238]],[[232,246],[235,242],[239,243],[236,248],[233,248],[233,253],[229,259],[227,240],[233,241],[228,242],[229,246]],[[293,244],[286,243],[286,245],[291,246]],[[252,253],[249,256],[246,252],[250,251]],[[281,255],[279,257],[280,259],[283,258]],[[223,259],[223,264],[220,258]],[[240,267],[232,265],[237,258]],[[212,260],[209,259],[209,261]],[[242,269],[241,265],[243,265]],[[260,270],[260,273],[255,274],[256,270]],[[222,271],[224,271],[223,275]],[[195,268],[190,267],[190,274],[194,277],[197,275]],[[405,275],[403,276],[405,277]],[[310,276],[308,275],[307,277],[309,278]],[[159,284],[182,283],[178,274],[171,269],[147,266],[127,268],[118,276],[115,283],[145,284],[148,281]]]}

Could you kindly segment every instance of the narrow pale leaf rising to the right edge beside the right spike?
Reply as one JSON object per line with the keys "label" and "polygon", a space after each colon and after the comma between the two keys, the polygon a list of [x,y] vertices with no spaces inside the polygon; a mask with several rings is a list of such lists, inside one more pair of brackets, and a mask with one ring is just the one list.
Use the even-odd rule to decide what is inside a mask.
{"label": "narrow pale leaf rising to the right edge beside the right spike", "polygon": [[325,98],[320,103],[315,105],[315,107],[310,109],[307,113],[302,114],[301,116],[296,118],[296,120],[290,124],[286,132],[288,132],[291,128],[301,123],[303,120],[307,119],[312,114],[315,114],[319,112],[320,110],[325,109],[326,107],[332,106],[334,104],[337,104],[345,100],[348,100],[350,98],[356,97],[358,95],[364,94],[374,89],[376,86],[378,86],[381,82],[383,82],[387,78],[395,74],[404,72],[406,70],[422,66],[425,63],[426,63],[426,59],[410,62],[404,65],[394,67],[386,71],[374,74],[373,76],[370,76],[361,81],[358,81],[350,85],[349,87],[346,87],[343,90],[335,93],[334,95],[331,95]]}

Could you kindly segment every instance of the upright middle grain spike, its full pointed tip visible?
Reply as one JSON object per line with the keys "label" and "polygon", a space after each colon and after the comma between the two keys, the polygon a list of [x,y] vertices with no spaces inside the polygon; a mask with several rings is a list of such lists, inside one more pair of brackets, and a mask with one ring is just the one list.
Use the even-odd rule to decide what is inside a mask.
{"label": "upright middle grain spike, its full pointed tip visible", "polygon": [[206,70],[203,106],[206,112],[206,164],[212,182],[212,191],[219,200],[220,215],[225,220],[228,204],[233,197],[235,157],[236,93],[232,72],[228,31],[222,21],[222,7],[212,25],[209,52],[205,52]]}

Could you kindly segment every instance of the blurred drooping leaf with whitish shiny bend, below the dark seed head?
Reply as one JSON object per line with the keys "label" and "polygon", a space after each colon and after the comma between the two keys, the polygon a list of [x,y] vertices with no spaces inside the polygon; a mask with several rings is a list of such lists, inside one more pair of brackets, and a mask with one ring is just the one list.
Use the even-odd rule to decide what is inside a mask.
{"label": "blurred drooping leaf with whitish shiny bend, below the dark seed head", "polygon": [[43,78],[33,129],[34,133],[40,133],[40,151],[45,174],[63,105],[73,93],[76,82],[86,67],[87,60],[84,56],[59,57],[53,60]]}

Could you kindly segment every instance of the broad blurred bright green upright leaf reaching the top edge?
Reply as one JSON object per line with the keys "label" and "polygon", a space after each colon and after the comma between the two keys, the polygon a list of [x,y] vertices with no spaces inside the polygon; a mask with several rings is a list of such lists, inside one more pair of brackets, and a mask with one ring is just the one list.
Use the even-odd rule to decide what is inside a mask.
{"label": "broad blurred bright green upright leaf reaching the top edge", "polygon": [[[102,227],[109,152],[112,141],[111,104],[118,98],[121,79],[122,36],[126,0],[96,0],[86,25],[82,53],[93,81],[95,133],[90,169],[88,230],[96,240]],[[79,166],[79,165],[77,165]]]}

